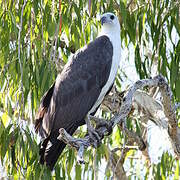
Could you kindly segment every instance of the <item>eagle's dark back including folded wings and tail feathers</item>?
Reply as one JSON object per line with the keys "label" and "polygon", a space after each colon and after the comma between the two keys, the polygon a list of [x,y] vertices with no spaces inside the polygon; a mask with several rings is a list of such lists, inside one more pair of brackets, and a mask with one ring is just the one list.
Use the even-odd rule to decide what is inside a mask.
{"label": "eagle's dark back including folded wings and tail feathers", "polygon": [[44,95],[36,127],[43,138],[40,162],[50,169],[65,148],[65,143],[57,140],[59,129],[64,128],[72,135],[85,123],[84,118],[107,83],[112,56],[109,38],[98,37],[69,60],[53,88]]}

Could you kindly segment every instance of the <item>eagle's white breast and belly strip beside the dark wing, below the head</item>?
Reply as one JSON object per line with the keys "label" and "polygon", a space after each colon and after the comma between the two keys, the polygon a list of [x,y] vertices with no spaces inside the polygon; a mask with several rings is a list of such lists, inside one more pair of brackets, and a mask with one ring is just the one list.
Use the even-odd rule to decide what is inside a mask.
{"label": "eagle's white breast and belly strip beside the dark wing, below the head", "polygon": [[94,106],[91,108],[88,114],[91,114],[96,110],[96,108],[102,103],[104,96],[108,92],[109,88],[112,86],[114,83],[117,70],[119,67],[119,62],[120,62],[120,57],[121,57],[121,40],[120,40],[120,34],[118,33],[117,35],[113,34],[102,34],[102,35],[107,35],[113,45],[113,57],[112,57],[112,65],[111,65],[111,71],[110,71],[110,76],[107,80],[107,83],[105,86],[102,88],[101,93],[99,95],[99,98],[97,99],[96,103]]}

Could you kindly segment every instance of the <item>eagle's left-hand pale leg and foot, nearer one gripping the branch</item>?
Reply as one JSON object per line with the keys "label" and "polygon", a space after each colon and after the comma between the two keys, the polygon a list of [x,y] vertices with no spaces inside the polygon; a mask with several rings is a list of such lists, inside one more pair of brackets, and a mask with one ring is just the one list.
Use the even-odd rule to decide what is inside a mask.
{"label": "eagle's left-hand pale leg and foot, nearer one gripping the branch", "polygon": [[85,118],[86,125],[87,125],[87,130],[89,137],[95,147],[98,147],[101,144],[101,137],[99,136],[98,132],[93,128],[90,122],[90,116],[87,115]]}

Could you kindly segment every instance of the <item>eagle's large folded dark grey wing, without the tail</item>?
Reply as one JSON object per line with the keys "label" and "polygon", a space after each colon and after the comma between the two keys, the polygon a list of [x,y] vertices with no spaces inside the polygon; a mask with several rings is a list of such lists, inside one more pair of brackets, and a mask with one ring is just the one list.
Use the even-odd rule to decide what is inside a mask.
{"label": "eagle's large folded dark grey wing, without the tail", "polygon": [[57,77],[43,128],[49,134],[59,128],[84,123],[84,118],[106,84],[112,64],[113,47],[101,36],[79,51]]}

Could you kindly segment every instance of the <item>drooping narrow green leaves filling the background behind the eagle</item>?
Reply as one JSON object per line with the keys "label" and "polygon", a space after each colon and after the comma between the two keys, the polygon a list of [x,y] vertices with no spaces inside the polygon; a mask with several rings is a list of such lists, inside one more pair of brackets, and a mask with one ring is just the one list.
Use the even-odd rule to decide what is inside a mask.
{"label": "drooping narrow green leaves filling the background behind the eagle", "polygon": [[[86,152],[88,164],[77,165],[74,150],[66,148],[51,174],[38,163],[38,138],[32,126],[40,98],[68,57],[97,36],[100,23],[96,17],[108,11],[119,16],[122,47],[133,47],[139,77],[152,76],[153,64],[157,64],[174,100],[180,101],[178,0],[0,1],[0,159],[8,176],[71,179],[73,174],[76,179],[94,179],[101,164],[108,161],[108,148],[122,146],[124,137],[116,128],[99,149]],[[117,78],[120,90],[128,78],[122,79],[121,74],[126,72],[121,70]],[[81,129],[78,136],[84,133]],[[148,168],[145,171],[149,177]],[[111,175],[106,169],[104,176]],[[158,179],[178,175],[179,163],[168,154],[153,169]]]}

